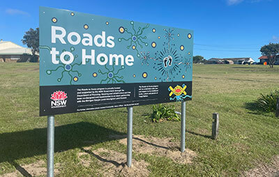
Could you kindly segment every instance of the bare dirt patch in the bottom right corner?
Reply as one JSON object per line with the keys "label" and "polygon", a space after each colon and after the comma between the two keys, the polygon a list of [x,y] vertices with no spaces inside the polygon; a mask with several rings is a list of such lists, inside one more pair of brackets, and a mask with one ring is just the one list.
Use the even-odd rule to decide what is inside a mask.
{"label": "bare dirt patch in the bottom right corner", "polygon": [[273,157],[271,164],[259,164],[255,169],[243,173],[246,177],[279,177],[279,155]]}

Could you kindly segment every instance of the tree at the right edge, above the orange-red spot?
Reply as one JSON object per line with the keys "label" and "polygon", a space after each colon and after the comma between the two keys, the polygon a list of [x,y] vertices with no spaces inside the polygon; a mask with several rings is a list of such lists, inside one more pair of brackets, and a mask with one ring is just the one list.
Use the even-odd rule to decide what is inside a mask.
{"label": "tree at the right edge, above the orange-red spot", "polygon": [[264,45],[260,52],[262,52],[263,56],[267,56],[269,59],[269,67],[273,68],[273,64],[276,62],[276,56],[279,54],[279,43],[269,43],[269,45]]}

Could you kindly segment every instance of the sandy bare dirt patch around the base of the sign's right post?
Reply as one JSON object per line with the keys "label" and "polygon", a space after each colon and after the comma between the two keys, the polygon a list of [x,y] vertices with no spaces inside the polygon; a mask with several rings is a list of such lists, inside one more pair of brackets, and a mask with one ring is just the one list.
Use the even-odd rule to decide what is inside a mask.
{"label": "sandy bare dirt patch around the base of the sign's right post", "polygon": [[[121,144],[127,145],[127,139],[120,139]],[[171,138],[160,139],[156,137],[133,136],[133,151],[137,153],[153,154],[169,157],[176,163],[191,163],[197,154],[186,148],[184,153],[179,151],[179,143],[173,142]]]}

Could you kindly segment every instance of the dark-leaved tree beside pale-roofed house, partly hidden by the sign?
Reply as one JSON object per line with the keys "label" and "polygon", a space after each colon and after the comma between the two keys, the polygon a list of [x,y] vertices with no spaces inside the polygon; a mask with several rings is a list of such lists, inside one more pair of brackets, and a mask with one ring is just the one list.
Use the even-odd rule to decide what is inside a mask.
{"label": "dark-leaved tree beside pale-roofed house, partly hidden by the sign", "polygon": [[39,52],[39,28],[36,28],[36,30],[29,29],[29,31],[25,32],[22,43],[31,48],[31,62],[38,62],[36,52]]}

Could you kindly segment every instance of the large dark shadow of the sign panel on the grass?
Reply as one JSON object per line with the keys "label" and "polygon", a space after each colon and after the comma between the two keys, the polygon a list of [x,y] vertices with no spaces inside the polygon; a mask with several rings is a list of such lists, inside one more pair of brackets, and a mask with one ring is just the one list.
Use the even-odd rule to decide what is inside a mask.
{"label": "large dark shadow of the sign panel on the grass", "polygon": [[[86,122],[57,126],[54,131],[55,152],[112,141],[113,139],[108,138],[109,134],[123,134]],[[0,153],[0,162],[10,162],[15,167],[19,167],[15,160],[45,155],[47,128],[0,134]]]}

